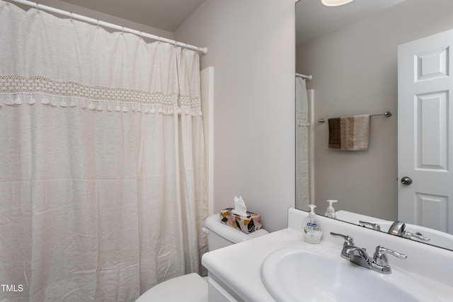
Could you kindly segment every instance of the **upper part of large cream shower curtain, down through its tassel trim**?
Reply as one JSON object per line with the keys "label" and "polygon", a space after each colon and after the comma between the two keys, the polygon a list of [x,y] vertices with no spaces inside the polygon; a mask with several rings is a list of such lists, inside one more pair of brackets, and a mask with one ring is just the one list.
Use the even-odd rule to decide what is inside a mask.
{"label": "upper part of large cream shower curtain, down through its tassel trim", "polygon": [[116,112],[201,115],[199,56],[0,1],[0,95]]}

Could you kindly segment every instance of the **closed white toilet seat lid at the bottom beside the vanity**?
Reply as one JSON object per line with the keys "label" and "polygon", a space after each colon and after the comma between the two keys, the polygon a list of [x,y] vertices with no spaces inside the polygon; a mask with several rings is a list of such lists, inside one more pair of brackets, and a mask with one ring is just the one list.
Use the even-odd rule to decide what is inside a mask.
{"label": "closed white toilet seat lid at the bottom beside the vanity", "polygon": [[135,302],[150,301],[207,302],[207,281],[199,274],[185,274],[151,287]]}

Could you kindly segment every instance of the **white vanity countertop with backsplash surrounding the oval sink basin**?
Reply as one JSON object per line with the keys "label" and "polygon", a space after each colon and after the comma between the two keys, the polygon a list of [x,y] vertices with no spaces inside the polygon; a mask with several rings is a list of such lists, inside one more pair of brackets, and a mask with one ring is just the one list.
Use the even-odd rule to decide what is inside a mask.
{"label": "white vanity countertop with backsplash surrounding the oval sink basin", "polygon": [[[290,209],[290,211],[294,210]],[[302,216],[306,216],[306,214],[302,214]],[[321,217],[321,219],[324,218]],[[275,301],[275,299],[268,293],[263,281],[261,281],[260,269],[265,258],[276,250],[282,248],[300,248],[303,245],[309,245],[311,248],[338,248],[338,257],[340,257],[343,241],[340,238],[333,238],[330,236],[328,232],[331,230],[352,236],[356,239],[357,245],[369,240],[370,243],[368,244],[372,243],[374,246],[377,244],[384,244],[389,248],[394,247],[395,249],[403,249],[402,246],[395,246],[396,243],[398,243],[398,245],[401,243],[394,241],[396,240],[396,238],[394,238],[395,236],[390,236],[389,234],[366,230],[365,228],[352,226],[349,223],[335,221],[334,219],[323,221],[323,223],[326,224],[326,229],[323,229],[323,239],[319,245],[304,242],[302,231],[298,230],[298,228],[300,228],[299,221],[289,219],[289,228],[254,238],[243,243],[230,245],[226,248],[207,252],[202,257],[202,265],[210,272],[210,276],[221,282],[226,288],[230,289],[243,299],[243,301],[265,302]],[[386,242],[387,240],[389,240],[389,242]],[[418,245],[414,245],[415,248],[417,248],[417,251],[413,251],[411,248],[413,243],[408,240],[403,241],[403,245],[409,246],[408,248],[411,248],[411,250],[398,251],[406,253],[408,255],[408,260],[409,258],[412,258],[413,260],[415,258],[415,260],[418,261],[418,257],[420,257],[418,254],[423,254],[423,257],[426,258],[425,249],[427,247],[420,243],[417,244]],[[370,248],[366,245],[367,244],[365,243],[365,246],[362,245],[362,247],[368,248],[369,250]],[[419,246],[421,247],[420,250],[418,250]],[[437,279],[431,278],[428,274],[425,274],[423,265],[421,265],[421,271],[420,269],[418,272],[412,272],[412,269],[409,271],[408,267],[410,268],[413,266],[413,262],[411,261],[391,259],[390,265],[391,267],[394,267],[394,269],[400,269],[401,271],[406,272],[415,280],[425,285],[440,298],[440,301],[451,302],[453,301],[453,282],[450,281],[451,273],[453,272],[453,252],[448,251],[449,253],[452,253],[450,258],[449,253],[445,254],[442,249],[435,249],[437,249],[435,250],[435,253],[440,252],[440,255],[434,256],[443,260],[443,263],[437,264],[437,262],[432,262],[435,260],[428,261],[427,265],[429,265],[429,267],[426,269],[429,269],[430,273],[436,272]],[[447,259],[445,258],[445,255],[447,255]],[[448,260],[447,263],[445,263],[445,260]],[[447,282],[439,280],[439,278],[445,279],[446,276],[449,276]]]}

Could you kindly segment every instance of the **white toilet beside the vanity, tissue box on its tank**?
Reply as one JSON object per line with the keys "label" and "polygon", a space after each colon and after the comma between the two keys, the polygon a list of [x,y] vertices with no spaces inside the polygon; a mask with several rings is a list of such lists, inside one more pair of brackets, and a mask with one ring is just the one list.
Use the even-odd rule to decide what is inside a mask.
{"label": "white toilet beside the vanity, tissue box on its tank", "polygon": [[[268,233],[264,229],[246,234],[220,223],[219,214],[207,217],[205,221],[207,246],[209,250],[217,250],[234,243],[263,236]],[[135,302],[172,301],[172,302],[207,302],[207,281],[199,274],[185,274],[157,284],[139,296]]]}

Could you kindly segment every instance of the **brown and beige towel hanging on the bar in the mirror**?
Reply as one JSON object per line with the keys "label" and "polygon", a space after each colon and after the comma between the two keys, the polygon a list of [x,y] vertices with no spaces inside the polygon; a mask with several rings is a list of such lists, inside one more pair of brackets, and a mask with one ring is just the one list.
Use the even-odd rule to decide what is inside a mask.
{"label": "brown and beige towel hanging on the bar in the mirror", "polygon": [[367,150],[370,118],[370,115],[354,115],[328,119],[328,147],[351,151]]}

